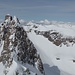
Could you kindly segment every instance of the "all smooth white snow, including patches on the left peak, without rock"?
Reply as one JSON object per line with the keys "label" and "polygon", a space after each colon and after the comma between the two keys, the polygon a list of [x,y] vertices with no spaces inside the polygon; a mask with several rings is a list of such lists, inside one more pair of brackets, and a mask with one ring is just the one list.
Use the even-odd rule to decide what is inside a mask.
{"label": "all smooth white snow, including patches on the left peak, without rock", "polygon": [[[14,20],[15,18],[16,17],[14,17]],[[49,22],[47,20],[40,21],[39,23],[35,23],[32,21],[21,22],[23,22],[23,28],[27,31],[29,39],[33,42],[34,46],[41,56],[44,65],[45,75],[75,75],[75,63],[73,62],[73,60],[75,60],[75,45],[71,45],[69,47],[65,45],[62,45],[62,47],[56,46],[44,36],[37,35],[34,32],[34,30],[54,30],[62,34],[64,37],[75,37],[74,24],[62,24],[57,22]],[[38,28],[33,28],[33,25],[36,25]],[[31,32],[29,32],[30,29]],[[10,36],[10,38],[12,37],[14,37],[14,35]],[[3,45],[0,47],[0,55],[2,47]],[[60,58],[60,60],[57,60],[56,58]],[[16,61],[13,61],[13,64],[8,69],[8,75],[15,75],[16,70],[21,71],[21,69],[26,68],[30,69],[31,75],[35,75],[35,73],[41,75],[39,71],[37,71],[32,66],[29,66],[28,64],[22,66],[21,65],[22,64],[19,65]],[[5,70],[5,67],[2,65],[2,63],[0,63],[0,75],[4,75],[3,70]]]}

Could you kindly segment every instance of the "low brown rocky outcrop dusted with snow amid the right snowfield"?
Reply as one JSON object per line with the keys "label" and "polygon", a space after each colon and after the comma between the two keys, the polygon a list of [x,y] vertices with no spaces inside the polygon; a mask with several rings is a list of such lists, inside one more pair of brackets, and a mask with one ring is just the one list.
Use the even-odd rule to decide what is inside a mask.
{"label": "low brown rocky outcrop dusted with snow amid the right snowfield", "polygon": [[62,44],[64,44],[68,47],[69,43],[71,43],[72,45],[75,44],[75,37],[64,37],[57,31],[34,31],[37,35],[43,35],[44,37],[48,38],[48,40],[56,46],[62,46]]}

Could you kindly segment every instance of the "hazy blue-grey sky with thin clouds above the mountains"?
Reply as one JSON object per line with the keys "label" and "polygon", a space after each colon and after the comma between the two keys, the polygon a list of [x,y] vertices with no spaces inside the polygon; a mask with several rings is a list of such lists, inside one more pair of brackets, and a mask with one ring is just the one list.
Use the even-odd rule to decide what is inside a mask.
{"label": "hazy blue-grey sky with thin clouds above the mountains", "polygon": [[0,19],[6,14],[24,20],[75,22],[75,0],[0,0]]}

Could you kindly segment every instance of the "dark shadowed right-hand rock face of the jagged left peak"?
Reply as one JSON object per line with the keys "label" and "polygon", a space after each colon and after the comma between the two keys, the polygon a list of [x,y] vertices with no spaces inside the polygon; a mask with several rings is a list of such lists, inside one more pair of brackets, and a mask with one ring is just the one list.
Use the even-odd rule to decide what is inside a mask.
{"label": "dark shadowed right-hand rock face of the jagged left peak", "polygon": [[29,63],[33,66],[35,66],[36,62],[38,62],[38,69],[41,73],[44,73],[44,68],[40,56],[37,54],[36,48],[28,39],[27,34],[22,27],[16,27],[15,36],[15,41],[18,48],[18,60],[22,61],[22,63]]}

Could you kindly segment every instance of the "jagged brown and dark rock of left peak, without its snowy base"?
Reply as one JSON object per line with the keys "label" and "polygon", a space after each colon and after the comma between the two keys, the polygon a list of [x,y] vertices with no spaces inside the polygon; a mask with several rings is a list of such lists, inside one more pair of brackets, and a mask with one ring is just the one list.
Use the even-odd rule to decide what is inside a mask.
{"label": "jagged brown and dark rock of left peak, without its snowy base", "polygon": [[[10,18],[10,21],[6,21]],[[18,26],[18,18],[12,19],[12,16],[6,15],[5,21],[0,27],[0,44],[3,42],[3,49],[0,55],[0,63],[2,62],[4,66],[10,67],[13,60],[20,63],[28,63],[37,66],[38,70],[44,73],[43,63],[40,55],[37,54],[37,50],[33,43],[27,37],[26,31],[23,27]],[[37,65],[35,64],[37,63]]]}

